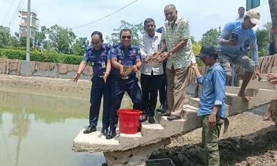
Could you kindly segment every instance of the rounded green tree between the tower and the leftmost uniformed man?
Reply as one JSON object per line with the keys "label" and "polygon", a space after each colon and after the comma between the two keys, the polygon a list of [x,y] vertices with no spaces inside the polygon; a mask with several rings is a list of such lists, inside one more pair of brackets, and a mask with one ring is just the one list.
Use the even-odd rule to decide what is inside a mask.
{"label": "rounded green tree between the tower and the leftmost uniformed man", "polygon": [[47,33],[53,50],[58,53],[71,53],[71,46],[76,35],[70,29],[55,25],[48,28]]}

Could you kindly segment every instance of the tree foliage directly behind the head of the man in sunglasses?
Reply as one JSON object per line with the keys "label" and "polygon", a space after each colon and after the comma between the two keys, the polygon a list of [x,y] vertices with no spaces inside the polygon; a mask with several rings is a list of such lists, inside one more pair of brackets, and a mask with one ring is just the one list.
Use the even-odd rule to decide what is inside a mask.
{"label": "tree foliage directly behind the head of the man in sunglasses", "polygon": [[111,33],[110,37],[107,36],[106,39],[109,42],[109,44],[116,44],[118,42],[120,42],[119,39],[119,33],[120,30],[124,29],[124,28],[128,28],[132,31],[132,38],[133,38],[133,42],[132,44],[139,46],[139,37],[141,36],[141,34],[144,33],[144,28],[143,28],[143,24],[129,24],[127,21],[121,20],[120,21],[121,26],[117,29],[114,29],[114,33]]}

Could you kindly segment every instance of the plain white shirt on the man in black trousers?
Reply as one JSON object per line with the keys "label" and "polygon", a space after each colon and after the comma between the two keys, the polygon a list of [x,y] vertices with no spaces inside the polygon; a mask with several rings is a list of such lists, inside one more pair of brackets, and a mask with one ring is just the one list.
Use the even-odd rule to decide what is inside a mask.
{"label": "plain white shirt on the man in black trousers", "polygon": [[161,42],[161,33],[155,33],[154,37],[150,37],[147,33],[144,33],[139,42],[139,48],[141,50],[141,73],[145,75],[161,75],[163,74],[163,64],[147,64],[144,59],[148,55],[157,53],[159,51],[159,44]]}

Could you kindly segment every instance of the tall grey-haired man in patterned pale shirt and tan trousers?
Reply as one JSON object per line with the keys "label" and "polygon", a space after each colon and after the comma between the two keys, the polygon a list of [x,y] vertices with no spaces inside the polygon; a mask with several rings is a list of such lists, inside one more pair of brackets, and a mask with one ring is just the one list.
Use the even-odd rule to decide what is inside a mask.
{"label": "tall grey-haired man in patterned pale shirt and tan trousers", "polygon": [[[188,84],[188,71],[191,62],[195,62],[188,20],[177,16],[177,10],[173,4],[164,8],[166,23],[163,25],[161,43],[163,44],[159,54],[160,62],[168,59],[166,74],[168,76],[168,111],[162,116],[168,116],[168,120],[181,119],[185,100],[185,88]],[[168,50],[168,52],[165,52]],[[165,53],[163,53],[165,52]]]}

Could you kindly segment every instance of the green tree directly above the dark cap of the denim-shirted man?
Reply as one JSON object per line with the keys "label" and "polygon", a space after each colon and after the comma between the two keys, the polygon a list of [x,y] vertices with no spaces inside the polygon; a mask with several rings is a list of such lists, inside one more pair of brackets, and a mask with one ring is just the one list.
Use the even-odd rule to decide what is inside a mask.
{"label": "green tree directly above the dark cap of the denim-shirted man", "polygon": [[220,29],[212,28],[202,35],[201,44],[217,45],[217,37],[220,35]]}

